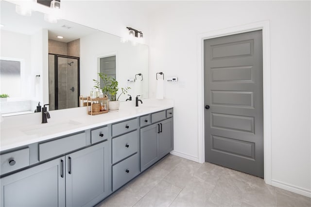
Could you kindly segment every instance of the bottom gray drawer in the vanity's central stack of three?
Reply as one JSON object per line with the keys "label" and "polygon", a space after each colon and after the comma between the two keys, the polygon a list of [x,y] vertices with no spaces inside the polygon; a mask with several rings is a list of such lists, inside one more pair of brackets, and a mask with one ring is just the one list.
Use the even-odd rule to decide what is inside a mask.
{"label": "bottom gray drawer in the vanity's central stack of three", "polygon": [[112,166],[112,190],[118,190],[139,173],[138,154]]}

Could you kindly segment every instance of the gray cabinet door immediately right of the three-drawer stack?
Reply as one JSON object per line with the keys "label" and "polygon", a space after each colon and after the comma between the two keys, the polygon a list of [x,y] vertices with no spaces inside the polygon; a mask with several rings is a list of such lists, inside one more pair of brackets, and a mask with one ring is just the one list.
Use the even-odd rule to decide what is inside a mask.
{"label": "gray cabinet door immediately right of the three-drawer stack", "polygon": [[140,171],[144,171],[157,161],[157,135],[159,124],[140,129]]}

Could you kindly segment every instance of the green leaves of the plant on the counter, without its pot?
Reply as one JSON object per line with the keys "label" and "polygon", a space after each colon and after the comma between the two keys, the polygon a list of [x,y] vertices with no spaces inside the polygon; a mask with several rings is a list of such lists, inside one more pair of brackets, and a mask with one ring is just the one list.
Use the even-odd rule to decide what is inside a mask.
{"label": "green leaves of the plant on the counter, without its pot", "polygon": [[101,88],[100,82],[98,80],[93,79],[93,81],[95,82],[94,87],[101,89],[104,94],[110,95],[110,99],[111,99],[110,101],[118,101],[122,94],[127,93],[128,89],[131,89],[130,87],[125,87],[125,88],[121,87],[122,92],[117,98],[117,93],[119,90],[118,81],[116,81],[116,79],[108,76],[107,74],[103,72],[98,73],[98,76],[102,79],[104,86],[103,88]]}

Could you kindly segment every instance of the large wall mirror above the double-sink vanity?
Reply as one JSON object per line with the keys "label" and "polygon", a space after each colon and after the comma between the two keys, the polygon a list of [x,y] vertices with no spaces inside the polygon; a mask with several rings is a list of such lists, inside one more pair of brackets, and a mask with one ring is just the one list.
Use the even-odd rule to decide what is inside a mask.
{"label": "large wall mirror above the double-sink vanity", "polygon": [[149,97],[147,45],[63,19],[49,23],[40,12],[21,16],[15,4],[0,4],[0,94],[9,95],[1,98],[2,116],[33,113],[38,102],[50,110],[78,107],[98,72],[131,87],[133,97]]}

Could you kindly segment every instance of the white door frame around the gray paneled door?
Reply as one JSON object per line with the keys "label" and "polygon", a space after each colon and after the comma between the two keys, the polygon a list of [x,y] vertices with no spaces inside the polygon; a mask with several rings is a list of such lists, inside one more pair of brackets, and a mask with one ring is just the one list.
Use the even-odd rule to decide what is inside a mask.
{"label": "white door frame around the gray paneled door", "polygon": [[197,35],[197,90],[198,90],[198,161],[205,162],[204,127],[204,40],[262,30],[262,73],[263,73],[263,162],[264,180],[271,185],[271,66],[270,66],[270,21],[259,21],[223,30]]}

